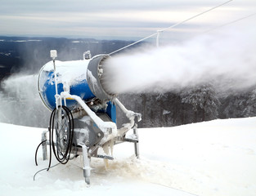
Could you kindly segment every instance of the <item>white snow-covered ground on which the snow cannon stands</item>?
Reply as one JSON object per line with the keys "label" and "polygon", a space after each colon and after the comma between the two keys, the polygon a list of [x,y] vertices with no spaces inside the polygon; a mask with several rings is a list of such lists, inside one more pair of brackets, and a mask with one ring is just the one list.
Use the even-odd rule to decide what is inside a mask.
{"label": "white snow-covered ground on which the snow cannon stands", "polygon": [[107,169],[102,159],[92,158],[89,187],[81,158],[33,180],[48,164],[41,149],[34,164],[42,131],[0,123],[1,196],[256,195],[256,118],[139,129],[141,158],[132,155],[132,144],[116,145]]}

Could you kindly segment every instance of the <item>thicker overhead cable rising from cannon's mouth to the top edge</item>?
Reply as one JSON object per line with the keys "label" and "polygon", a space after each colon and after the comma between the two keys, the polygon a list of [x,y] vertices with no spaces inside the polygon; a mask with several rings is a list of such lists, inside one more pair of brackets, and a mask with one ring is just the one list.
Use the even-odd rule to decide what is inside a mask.
{"label": "thicker overhead cable rising from cannon's mouth to the top edge", "polygon": [[186,20],[183,20],[183,21],[181,21],[181,22],[178,22],[178,23],[176,23],[176,24],[174,24],[174,25],[171,25],[171,26],[169,26],[168,28],[158,30],[156,33],[150,34],[150,35],[147,36],[146,38],[141,38],[141,39],[138,40],[137,42],[132,42],[131,44],[128,44],[126,47],[121,47],[121,48],[119,48],[119,49],[116,50],[116,51],[112,51],[112,52],[110,52],[108,55],[110,56],[110,55],[115,54],[115,53],[118,52],[118,51],[124,50],[125,48],[132,47],[133,45],[137,44],[138,42],[142,42],[142,41],[144,41],[144,40],[146,40],[146,39],[148,39],[148,38],[154,37],[154,36],[157,35],[159,32],[164,32],[164,31],[166,31],[166,30],[168,30],[168,29],[173,29],[173,28],[176,27],[177,25],[182,25],[183,23],[186,23],[188,20],[192,20],[192,19],[194,19],[194,18],[196,18],[196,17],[198,17],[198,16],[201,16],[201,15],[203,15],[203,14],[209,12],[209,11],[212,11],[212,10],[218,8],[218,7],[222,7],[223,5],[225,5],[225,4],[227,4],[228,2],[231,2],[231,1],[233,1],[233,0],[229,0],[229,1],[227,1],[227,2],[223,2],[223,3],[219,4],[219,5],[216,6],[216,7],[212,7],[212,8],[210,8],[209,10],[200,12],[199,14],[197,14],[197,15],[195,15],[195,16],[191,16],[190,18],[188,18],[188,19],[186,19]]}

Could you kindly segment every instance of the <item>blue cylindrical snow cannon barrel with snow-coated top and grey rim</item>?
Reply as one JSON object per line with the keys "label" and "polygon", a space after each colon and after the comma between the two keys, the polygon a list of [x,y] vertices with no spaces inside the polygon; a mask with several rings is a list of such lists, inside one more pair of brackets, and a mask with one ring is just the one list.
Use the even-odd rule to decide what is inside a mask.
{"label": "blue cylindrical snow cannon barrel with snow-coated top and grey rim", "polygon": [[[68,91],[89,101],[93,98],[111,100],[116,95],[104,90],[104,61],[107,55],[98,55],[89,60],[55,61],[57,93]],[[48,62],[38,75],[38,91],[48,109],[56,108],[56,86],[53,61]],[[66,106],[73,109],[75,100],[66,100]]]}

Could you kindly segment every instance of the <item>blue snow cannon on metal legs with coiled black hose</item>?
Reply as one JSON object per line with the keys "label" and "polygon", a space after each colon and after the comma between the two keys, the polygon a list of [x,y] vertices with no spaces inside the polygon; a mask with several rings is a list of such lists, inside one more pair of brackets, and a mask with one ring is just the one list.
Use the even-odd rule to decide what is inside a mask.
{"label": "blue snow cannon on metal legs with coiled black hose", "polygon": [[[104,85],[111,78],[107,78],[104,69],[111,57],[103,54],[91,58],[90,51],[86,51],[83,60],[61,61],[56,60],[55,50],[50,54],[52,61],[38,74],[39,96],[52,112],[48,130],[43,131],[39,144],[43,146],[43,160],[50,150],[47,170],[51,168],[52,153],[62,164],[83,156],[83,176],[90,184],[91,158],[103,158],[105,163],[113,160],[114,145],[134,143],[139,158],[137,122],[141,121],[141,114],[126,109],[118,95],[105,90]],[[119,128],[116,106],[128,118],[128,123]],[[38,148],[38,165],[37,152]]]}

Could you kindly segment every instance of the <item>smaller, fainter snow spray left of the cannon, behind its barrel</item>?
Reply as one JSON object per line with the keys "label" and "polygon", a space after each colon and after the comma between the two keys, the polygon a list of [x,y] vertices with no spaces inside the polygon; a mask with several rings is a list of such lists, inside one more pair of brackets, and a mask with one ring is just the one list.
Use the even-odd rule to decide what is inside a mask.
{"label": "smaller, fainter snow spray left of the cannon, behind its barrel", "polygon": [[1,82],[0,122],[47,127],[49,112],[37,90],[38,75],[13,74]]}

